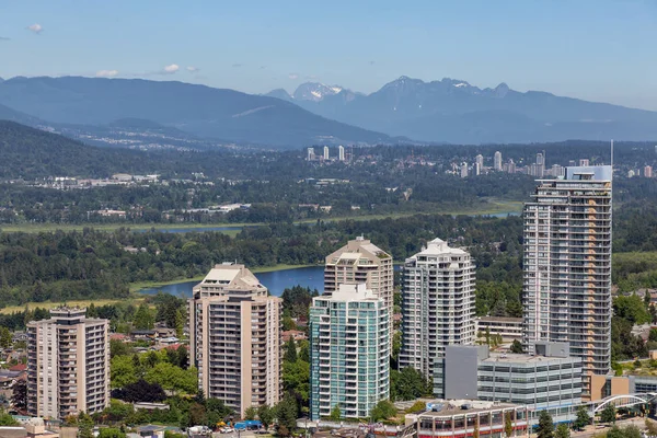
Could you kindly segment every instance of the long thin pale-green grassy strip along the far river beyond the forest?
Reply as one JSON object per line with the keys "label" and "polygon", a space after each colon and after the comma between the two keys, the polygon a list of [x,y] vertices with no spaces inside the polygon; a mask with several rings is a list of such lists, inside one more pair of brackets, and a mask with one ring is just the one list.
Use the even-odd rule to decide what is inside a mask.
{"label": "long thin pale-green grassy strip along the far river beyond the forest", "polygon": [[[520,214],[522,210],[522,203],[516,200],[500,200],[500,199],[488,199],[487,204],[483,204],[481,207],[475,208],[464,208],[460,210],[453,211],[403,211],[397,214],[382,214],[382,215],[364,215],[364,216],[348,216],[348,217],[335,217],[335,218],[324,218],[322,219],[325,222],[334,222],[338,220],[353,219],[353,220],[377,220],[377,219],[387,219],[387,218],[403,218],[414,215],[429,215],[429,214],[439,214],[439,215],[499,215],[506,212],[515,212]],[[296,223],[314,223],[316,219],[307,219],[300,220]],[[171,230],[171,229],[184,229],[193,231],[195,229],[203,228],[216,228],[216,227],[258,227],[264,223],[143,223],[143,224],[130,224],[130,223],[83,223],[83,224],[73,224],[73,223],[21,223],[21,224],[1,224],[0,231],[4,232],[47,232],[55,230],[62,231],[81,231],[84,228],[93,228],[94,230],[102,231],[114,231],[119,228],[129,228],[134,231],[145,231],[150,229],[155,230]],[[237,235],[239,230],[221,230],[224,234],[230,237]]]}

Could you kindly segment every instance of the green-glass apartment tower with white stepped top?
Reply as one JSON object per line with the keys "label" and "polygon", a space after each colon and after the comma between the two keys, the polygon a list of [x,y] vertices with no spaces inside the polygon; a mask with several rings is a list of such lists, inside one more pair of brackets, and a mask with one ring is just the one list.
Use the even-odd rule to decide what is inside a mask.
{"label": "green-glass apartment tower with white stepped top", "polygon": [[390,397],[388,309],[364,284],[341,285],[310,308],[310,417],[367,418]]}

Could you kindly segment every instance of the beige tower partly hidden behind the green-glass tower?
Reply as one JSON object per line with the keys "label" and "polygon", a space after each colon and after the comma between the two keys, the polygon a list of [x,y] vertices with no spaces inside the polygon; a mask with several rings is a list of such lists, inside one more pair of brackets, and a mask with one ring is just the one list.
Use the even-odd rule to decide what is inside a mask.
{"label": "beige tower partly hidden behind the green-glass tower", "polygon": [[[326,257],[324,293],[339,289],[343,284],[364,283],[388,309],[389,333],[393,333],[394,267],[392,256],[362,237]],[[392,335],[390,342],[392,343]]]}

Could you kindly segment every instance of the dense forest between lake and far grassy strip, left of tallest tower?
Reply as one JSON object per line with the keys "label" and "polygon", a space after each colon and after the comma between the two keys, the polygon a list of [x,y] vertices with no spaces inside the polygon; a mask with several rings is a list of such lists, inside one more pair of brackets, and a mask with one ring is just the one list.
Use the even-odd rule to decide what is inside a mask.
{"label": "dense forest between lake and far grassy strip, left of tallest tower", "polygon": [[[204,275],[214,263],[250,267],[323,263],[349,238],[367,235],[397,261],[435,237],[469,246],[481,278],[520,278],[521,221],[468,216],[418,215],[400,219],[274,223],[244,228],[230,238],[216,232],[0,233],[2,302],[117,298],[132,281],[165,281]],[[136,252],[127,251],[131,247]]]}

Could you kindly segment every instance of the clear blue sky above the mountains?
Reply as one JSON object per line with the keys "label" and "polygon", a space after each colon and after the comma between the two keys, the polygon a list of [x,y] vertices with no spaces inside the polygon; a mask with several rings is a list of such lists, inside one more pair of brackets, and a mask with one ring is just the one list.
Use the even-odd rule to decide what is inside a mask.
{"label": "clear blue sky above the mountains", "polygon": [[250,93],[321,81],[372,92],[405,74],[657,111],[656,42],[655,0],[0,3],[5,79],[143,77]]}

